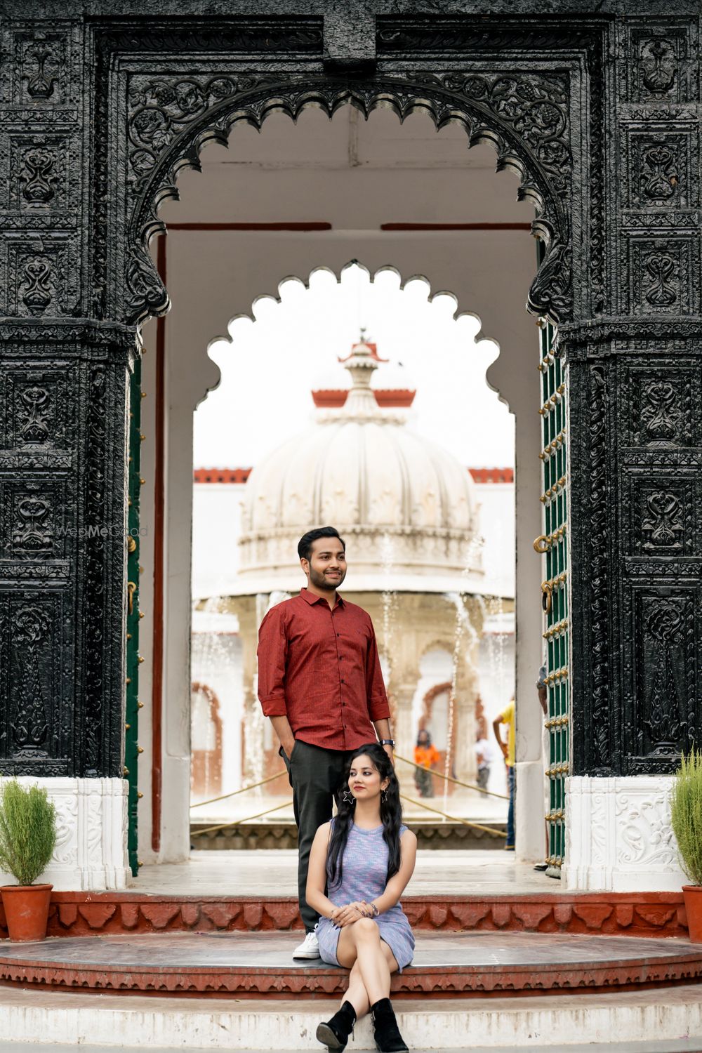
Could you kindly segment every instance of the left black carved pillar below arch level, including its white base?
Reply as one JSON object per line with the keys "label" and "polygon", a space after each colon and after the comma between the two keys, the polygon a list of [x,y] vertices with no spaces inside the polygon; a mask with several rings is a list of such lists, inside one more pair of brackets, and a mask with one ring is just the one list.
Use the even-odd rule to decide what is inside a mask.
{"label": "left black carved pillar below arch level, including its white base", "polygon": [[124,477],[134,330],[0,326],[3,775],[45,786],[57,888],[127,879]]}

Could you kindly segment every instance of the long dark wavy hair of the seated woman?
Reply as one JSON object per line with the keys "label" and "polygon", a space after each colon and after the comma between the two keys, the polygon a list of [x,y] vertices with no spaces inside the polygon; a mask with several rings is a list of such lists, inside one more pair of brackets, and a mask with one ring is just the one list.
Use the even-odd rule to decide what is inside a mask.
{"label": "long dark wavy hair of the seated woman", "polygon": [[[329,888],[341,885],[344,872],[344,850],[348,840],[348,831],[354,821],[356,800],[343,799],[344,790],[348,790],[348,774],[357,757],[368,757],[380,775],[380,781],[389,779],[384,794],[380,797],[380,818],[383,823],[383,840],[387,845],[387,880],[400,869],[400,827],[402,826],[402,804],[400,803],[400,783],[395,774],[390,759],[382,746],[373,742],[356,750],[348,761],[344,781],[339,794],[338,812],[334,820],[329,848],[326,855],[329,875]],[[383,800],[383,796],[385,800]]]}

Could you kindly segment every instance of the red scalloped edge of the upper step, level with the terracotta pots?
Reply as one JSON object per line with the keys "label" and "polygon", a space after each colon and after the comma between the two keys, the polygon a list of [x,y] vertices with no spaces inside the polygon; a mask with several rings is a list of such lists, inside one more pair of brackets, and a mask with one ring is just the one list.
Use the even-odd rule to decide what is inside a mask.
{"label": "red scalloped edge of the upper step, level with the terracotta pots", "polygon": [[[413,927],[419,930],[687,936],[681,892],[407,896],[403,907]],[[54,892],[48,916],[49,936],[301,928],[293,896]],[[6,932],[0,908],[0,936]]]}

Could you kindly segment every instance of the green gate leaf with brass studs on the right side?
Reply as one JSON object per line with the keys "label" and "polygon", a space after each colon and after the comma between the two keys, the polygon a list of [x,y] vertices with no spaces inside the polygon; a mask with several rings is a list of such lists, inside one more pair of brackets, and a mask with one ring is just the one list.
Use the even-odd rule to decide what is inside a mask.
{"label": "green gate leaf with brass studs on the right side", "polygon": [[545,612],[546,690],[548,698],[549,784],[548,854],[546,862],[560,868],[565,855],[565,778],[569,772],[570,729],[568,690],[568,588],[567,588],[567,455],[565,375],[558,351],[556,330],[540,320],[541,398],[543,450],[543,534],[534,542],[542,553],[545,577],[541,600]]}

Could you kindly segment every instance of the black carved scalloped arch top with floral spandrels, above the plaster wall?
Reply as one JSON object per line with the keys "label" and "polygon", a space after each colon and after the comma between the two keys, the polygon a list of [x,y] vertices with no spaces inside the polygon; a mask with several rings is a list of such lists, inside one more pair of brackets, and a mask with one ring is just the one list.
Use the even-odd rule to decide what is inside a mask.
{"label": "black carved scalloped arch top with floral spandrels, above the plaster wall", "polygon": [[260,130],[279,112],[297,120],[317,106],[329,118],[345,105],[365,119],[377,108],[392,110],[403,121],[426,113],[437,130],[461,124],[468,146],[489,142],[498,171],[520,176],[520,199],[537,208],[533,232],[546,253],[527,301],[535,314],[554,321],[571,316],[570,184],[567,76],[560,74],[450,73],[379,76],[367,80],[328,76],[255,73],[236,76],[162,76],[135,78],[129,92],[126,321],[143,322],[164,314],[167,292],[147,251],[156,233],[165,231],[160,203],[178,197],[176,181],[185,166],[200,170],[207,142],[223,145],[232,128],[246,122]]}

